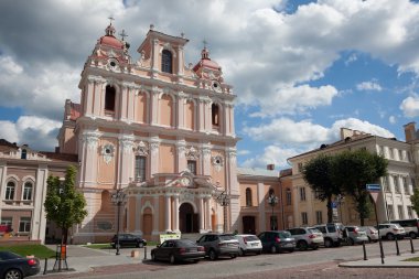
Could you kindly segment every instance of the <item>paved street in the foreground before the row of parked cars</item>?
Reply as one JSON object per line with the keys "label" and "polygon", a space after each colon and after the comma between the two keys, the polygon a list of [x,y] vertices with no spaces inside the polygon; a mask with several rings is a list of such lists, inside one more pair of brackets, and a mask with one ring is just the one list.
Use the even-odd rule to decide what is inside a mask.
{"label": "paved street in the foreground before the row of parked cars", "polygon": [[[367,247],[367,257],[379,257],[378,244],[369,244]],[[415,240],[415,247],[419,249],[419,239]],[[410,254],[410,243],[408,240],[399,242],[399,248],[402,256],[417,256]],[[236,259],[221,259],[217,261],[202,260],[200,264],[183,264],[171,266],[165,262],[152,262],[150,260],[132,259],[129,254],[132,249],[122,249],[120,256],[115,256],[115,250],[100,250],[87,253],[98,254],[99,256],[77,256],[68,259],[69,267],[76,268],[76,259],[85,261],[85,266],[90,270],[85,272],[63,272],[42,276],[45,278],[326,278],[333,276],[339,278],[415,278],[417,268],[343,268],[339,267],[340,262],[348,260],[362,260],[362,246],[321,248],[319,250],[296,251],[292,254],[261,256],[246,256]],[[148,249],[150,251],[150,247]],[[385,255],[396,255],[395,243],[384,242]],[[83,251],[83,250],[82,250]],[[71,253],[71,251],[69,251]],[[82,253],[84,254],[84,253]],[[148,257],[150,259],[150,257]],[[96,260],[96,264],[89,265],[89,260]],[[386,260],[386,258],[385,258]],[[101,262],[101,264],[100,264]],[[125,264],[123,264],[125,262]],[[77,264],[83,267],[82,264]],[[79,268],[77,270],[80,270]],[[406,277],[400,277],[400,275]],[[320,277],[319,277],[320,276]],[[419,278],[419,277],[418,277]]]}

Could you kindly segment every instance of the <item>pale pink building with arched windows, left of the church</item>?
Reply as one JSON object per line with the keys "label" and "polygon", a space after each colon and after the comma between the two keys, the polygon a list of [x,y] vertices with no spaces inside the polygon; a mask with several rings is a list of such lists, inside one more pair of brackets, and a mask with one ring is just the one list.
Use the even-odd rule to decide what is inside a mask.
{"label": "pale pink building with arched windows, left of the church", "polygon": [[69,164],[77,164],[77,155],[37,152],[0,139],[0,224],[13,229],[0,240],[44,243],[46,234],[55,234],[43,205],[46,180],[50,175],[64,179]]}

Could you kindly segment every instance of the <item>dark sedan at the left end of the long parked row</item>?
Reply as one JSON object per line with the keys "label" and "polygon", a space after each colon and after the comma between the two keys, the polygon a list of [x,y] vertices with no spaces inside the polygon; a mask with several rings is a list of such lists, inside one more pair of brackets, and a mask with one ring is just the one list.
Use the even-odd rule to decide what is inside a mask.
{"label": "dark sedan at the left end of the long parked row", "polygon": [[178,261],[198,262],[203,258],[205,258],[205,248],[190,239],[165,240],[151,250],[151,259],[154,261],[169,260],[170,264]]}

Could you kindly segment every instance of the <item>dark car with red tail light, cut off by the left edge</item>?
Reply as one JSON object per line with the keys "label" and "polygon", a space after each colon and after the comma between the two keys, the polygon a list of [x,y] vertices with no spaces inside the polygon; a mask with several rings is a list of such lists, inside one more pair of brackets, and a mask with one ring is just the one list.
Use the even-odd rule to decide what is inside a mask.
{"label": "dark car with red tail light, cut off by the left edge", "polygon": [[37,275],[40,270],[37,258],[24,258],[11,251],[0,251],[0,278],[21,279]]}

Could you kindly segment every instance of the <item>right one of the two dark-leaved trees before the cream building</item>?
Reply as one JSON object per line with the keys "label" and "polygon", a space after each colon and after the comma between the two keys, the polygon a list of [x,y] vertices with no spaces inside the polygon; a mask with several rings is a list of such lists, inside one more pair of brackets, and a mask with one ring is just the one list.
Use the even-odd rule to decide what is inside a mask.
{"label": "right one of the two dark-leaved trees before the cream building", "polygon": [[361,225],[370,213],[369,193],[366,184],[376,183],[387,174],[388,162],[382,155],[365,149],[344,151],[335,155],[332,181],[353,197]]}

